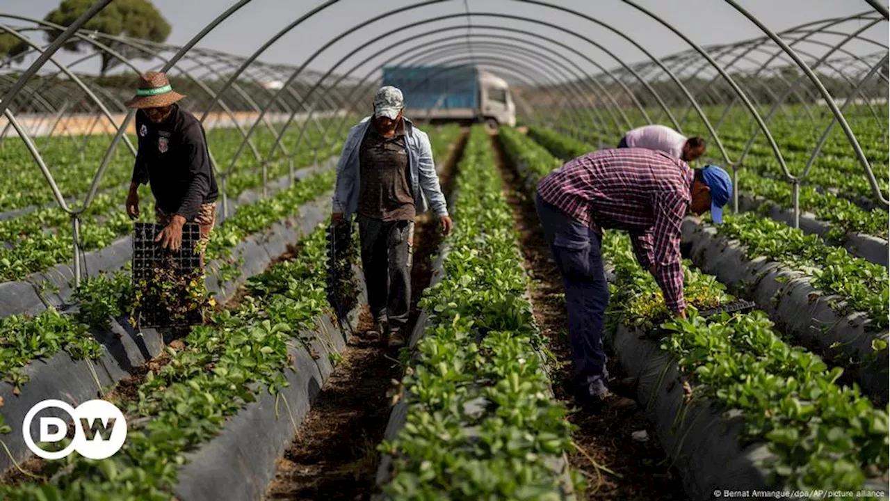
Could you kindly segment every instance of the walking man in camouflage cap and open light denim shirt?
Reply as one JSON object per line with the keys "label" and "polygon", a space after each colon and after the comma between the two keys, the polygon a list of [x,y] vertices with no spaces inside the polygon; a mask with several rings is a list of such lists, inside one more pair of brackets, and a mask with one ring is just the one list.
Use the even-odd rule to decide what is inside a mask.
{"label": "walking man in camouflage cap and open light denim shirt", "polygon": [[427,210],[427,200],[442,231],[451,231],[429,137],[404,117],[404,108],[401,90],[381,87],[373,118],[349,130],[331,216],[340,223],[357,215],[368,306],[376,332],[391,347],[405,344],[414,218]]}

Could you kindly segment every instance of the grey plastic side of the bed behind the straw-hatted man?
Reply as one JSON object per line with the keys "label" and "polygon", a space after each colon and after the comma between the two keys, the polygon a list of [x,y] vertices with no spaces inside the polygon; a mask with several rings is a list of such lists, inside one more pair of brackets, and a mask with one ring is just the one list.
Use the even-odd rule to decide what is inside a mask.
{"label": "grey plastic side of the bed behind the straw-hatted man", "polygon": [[[295,171],[295,180],[303,181],[317,174],[333,170],[336,157],[307,168]],[[280,177],[267,185],[267,193],[279,193],[290,184],[290,176]],[[230,214],[237,213],[239,207],[260,200],[262,191],[247,190],[236,200],[229,201]],[[119,207],[118,207],[119,209]],[[216,203],[217,226],[223,223],[222,201]],[[230,216],[231,217],[231,216]],[[132,226],[131,226],[132,227]],[[85,252],[81,272],[91,278],[127,266],[133,256],[133,235],[128,234],[100,250]],[[73,262],[60,263],[28,275],[24,280],[0,283],[0,318],[16,314],[35,315],[49,306],[66,308],[70,305],[73,291]]]}

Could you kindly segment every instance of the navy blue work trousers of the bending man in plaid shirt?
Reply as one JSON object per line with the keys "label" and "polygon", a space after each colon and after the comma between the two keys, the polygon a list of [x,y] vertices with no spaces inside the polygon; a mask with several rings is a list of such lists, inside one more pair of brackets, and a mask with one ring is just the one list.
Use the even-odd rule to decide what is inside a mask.
{"label": "navy blue work trousers of the bending man in plaid shirt", "polygon": [[591,395],[602,394],[609,379],[603,346],[603,316],[609,304],[603,236],[540,196],[535,197],[535,205],[565,288],[575,384]]}

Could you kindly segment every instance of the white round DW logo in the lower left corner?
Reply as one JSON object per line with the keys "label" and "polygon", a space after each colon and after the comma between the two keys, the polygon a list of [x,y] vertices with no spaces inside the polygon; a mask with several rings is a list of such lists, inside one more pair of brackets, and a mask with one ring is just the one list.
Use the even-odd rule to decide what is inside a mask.
{"label": "white round DW logo in the lower left corner", "polygon": [[[34,416],[48,407],[58,407],[67,412],[75,423],[74,439],[68,447],[56,452],[37,447],[31,438]],[[68,431],[65,420],[58,417],[41,417],[39,425],[41,442],[61,441]],[[105,459],[124,447],[126,420],[120,409],[106,400],[89,400],[74,408],[61,400],[49,399],[31,407],[25,415],[21,432],[31,452],[44,459],[61,459],[71,454],[72,450],[90,459]]]}

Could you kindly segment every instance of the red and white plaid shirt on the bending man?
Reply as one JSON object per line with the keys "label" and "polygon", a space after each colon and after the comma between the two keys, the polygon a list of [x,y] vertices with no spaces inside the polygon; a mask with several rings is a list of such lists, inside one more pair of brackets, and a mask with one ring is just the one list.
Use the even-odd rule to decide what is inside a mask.
{"label": "red and white plaid shirt on the bending man", "polygon": [[665,152],[600,150],[541,179],[538,195],[579,223],[627,230],[636,259],[655,264],[667,308],[685,309],[680,229],[692,201],[693,171]]}

